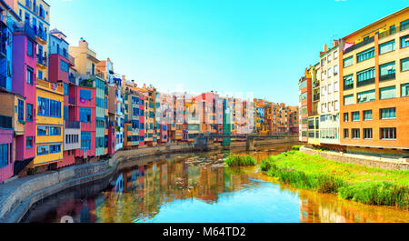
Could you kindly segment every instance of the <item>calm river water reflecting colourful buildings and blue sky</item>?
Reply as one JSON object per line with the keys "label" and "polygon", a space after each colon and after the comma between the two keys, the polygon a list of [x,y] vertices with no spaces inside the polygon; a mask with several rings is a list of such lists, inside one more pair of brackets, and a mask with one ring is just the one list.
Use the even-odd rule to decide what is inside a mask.
{"label": "calm river water reflecting colourful buildings and blue sky", "polygon": [[[250,152],[258,161],[290,146]],[[334,223],[408,222],[409,212],[366,206],[334,195],[274,183],[258,167],[224,167],[243,151],[129,160],[111,180],[76,186],[46,197],[22,222],[56,223]]]}

